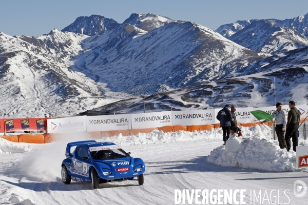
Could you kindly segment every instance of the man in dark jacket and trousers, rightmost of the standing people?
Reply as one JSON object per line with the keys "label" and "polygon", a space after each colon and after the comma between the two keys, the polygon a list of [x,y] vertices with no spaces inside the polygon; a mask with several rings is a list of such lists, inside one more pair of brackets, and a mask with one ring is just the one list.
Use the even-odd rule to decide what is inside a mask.
{"label": "man in dark jacket and trousers, rightmost of the standing people", "polygon": [[293,150],[296,152],[296,146],[298,146],[298,126],[300,121],[300,112],[295,107],[295,102],[289,102],[290,111],[287,113],[287,123],[286,123],[286,131],[285,131],[285,142],[286,149],[289,151],[291,149],[291,138],[293,142]]}

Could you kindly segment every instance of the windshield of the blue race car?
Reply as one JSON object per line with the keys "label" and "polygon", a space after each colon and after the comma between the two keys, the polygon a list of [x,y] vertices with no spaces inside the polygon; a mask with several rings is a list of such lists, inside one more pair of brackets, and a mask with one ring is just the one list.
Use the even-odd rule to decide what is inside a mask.
{"label": "windshield of the blue race car", "polygon": [[129,156],[129,154],[122,149],[98,150],[90,153],[93,159],[116,159]]}

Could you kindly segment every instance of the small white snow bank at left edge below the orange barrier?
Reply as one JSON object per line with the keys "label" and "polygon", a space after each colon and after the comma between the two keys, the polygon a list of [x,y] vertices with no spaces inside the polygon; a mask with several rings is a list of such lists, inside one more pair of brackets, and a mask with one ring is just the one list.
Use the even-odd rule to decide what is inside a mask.
{"label": "small white snow bank at left edge below the orange barrier", "polygon": [[11,142],[0,137],[0,154],[31,152],[33,149],[24,143]]}

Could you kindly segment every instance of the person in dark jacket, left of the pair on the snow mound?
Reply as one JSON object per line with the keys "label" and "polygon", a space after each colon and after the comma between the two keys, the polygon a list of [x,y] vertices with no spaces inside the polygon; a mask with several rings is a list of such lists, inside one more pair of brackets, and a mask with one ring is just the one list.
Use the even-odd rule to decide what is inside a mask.
{"label": "person in dark jacket, left of the pair on the snow mound", "polygon": [[225,107],[218,112],[216,119],[220,121],[220,127],[222,128],[223,131],[223,141],[224,141],[223,145],[226,145],[226,141],[230,137],[230,126],[231,126],[230,121],[234,121],[232,113],[230,111],[230,106],[225,105]]}

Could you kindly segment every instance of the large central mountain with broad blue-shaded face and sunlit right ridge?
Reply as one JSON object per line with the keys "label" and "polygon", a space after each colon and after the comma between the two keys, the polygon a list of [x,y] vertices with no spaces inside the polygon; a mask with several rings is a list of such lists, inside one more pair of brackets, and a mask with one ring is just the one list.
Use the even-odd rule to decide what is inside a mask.
{"label": "large central mountain with broad blue-shaded face and sunlit right ridge", "polygon": [[95,79],[103,90],[132,96],[223,78],[269,56],[190,22],[150,32],[122,24],[85,39],[83,45],[71,68]]}

